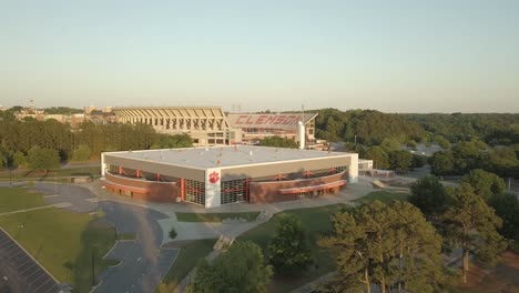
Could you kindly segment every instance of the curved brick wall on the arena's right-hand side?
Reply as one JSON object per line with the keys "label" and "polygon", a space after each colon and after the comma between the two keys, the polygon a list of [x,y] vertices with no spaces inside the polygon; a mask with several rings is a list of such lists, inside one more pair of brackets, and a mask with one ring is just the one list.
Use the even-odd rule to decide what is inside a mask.
{"label": "curved brick wall on the arena's right-hand side", "polygon": [[[346,171],[322,178],[298,179],[289,181],[251,182],[248,199],[251,203],[294,201],[299,198],[298,194],[281,194],[279,190],[316,186],[337,182],[343,180],[343,178],[347,178]],[[332,190],[333,193],[337,193],[339,188],[333,188]]]}

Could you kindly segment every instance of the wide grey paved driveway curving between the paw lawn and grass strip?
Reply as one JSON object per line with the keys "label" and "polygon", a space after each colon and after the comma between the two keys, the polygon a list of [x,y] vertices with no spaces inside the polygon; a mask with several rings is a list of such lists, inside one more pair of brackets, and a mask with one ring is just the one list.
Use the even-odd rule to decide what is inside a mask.
{"label": "wide grey paved driveway curving between the paw lawn and grass strip", "polygon": [[100,275],[94,292],[152,292],[177,255],[177,250],[160,249],[162,230],[157,221],[166,215],[141,206],[103,201],[100,209],[119,233],[136,233],[135,241],[120,241],[106,259],[121,260]]}

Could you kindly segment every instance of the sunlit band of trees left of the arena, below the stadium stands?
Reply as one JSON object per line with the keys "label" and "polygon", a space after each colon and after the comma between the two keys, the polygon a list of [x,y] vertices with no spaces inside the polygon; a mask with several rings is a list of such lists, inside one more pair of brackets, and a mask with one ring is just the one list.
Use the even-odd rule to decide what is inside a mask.
{"label": "sunlit band of trees left of the arena, below the stadium stands", "polygon": [[53,119],[18,121],[11,112],[0,117],[0,155],[3,168],[49,170],[60,162],[86,161],[105,151],[186,148],[187,134],[156,133],[146,124],[95,124],[84,122],[72,129]]}

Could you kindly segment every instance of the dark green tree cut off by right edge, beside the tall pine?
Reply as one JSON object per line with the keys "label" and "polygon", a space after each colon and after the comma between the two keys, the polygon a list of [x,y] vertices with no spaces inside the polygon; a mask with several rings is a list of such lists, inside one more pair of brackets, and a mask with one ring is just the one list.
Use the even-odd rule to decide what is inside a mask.
{"label": "dark green tree cut off by right edge, beside the tall pine", "polygon": [[489,200],[489,205],[501,218],[502,226],[499,234],[507,239],[519,241],[519,199],[513,193],[495,194]]}

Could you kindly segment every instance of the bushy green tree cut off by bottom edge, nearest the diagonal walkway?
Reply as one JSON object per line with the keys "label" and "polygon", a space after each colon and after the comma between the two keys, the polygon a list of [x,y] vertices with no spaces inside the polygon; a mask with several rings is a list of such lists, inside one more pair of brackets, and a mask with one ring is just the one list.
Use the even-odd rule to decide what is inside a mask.
{"label": "bushy green tree cut off by bottom edge, nearest the diagonal walkway", "polygon": [[213,263],[202,260],[189,292],[267,292],[272,266],[265,265],[262,250],[251,241],[236,241]]}

